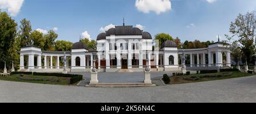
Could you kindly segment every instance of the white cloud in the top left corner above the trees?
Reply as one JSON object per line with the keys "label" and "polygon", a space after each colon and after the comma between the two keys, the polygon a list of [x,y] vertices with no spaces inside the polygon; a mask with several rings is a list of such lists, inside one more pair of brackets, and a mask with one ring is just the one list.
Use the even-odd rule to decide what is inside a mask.
{"label": "white cloud in the top left corner above the trees", "polygon": [[22,7],[24,0],[0,0],[0,8],[7,9],[11,16],[16,16]]}

